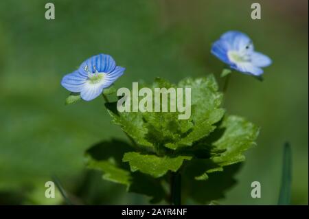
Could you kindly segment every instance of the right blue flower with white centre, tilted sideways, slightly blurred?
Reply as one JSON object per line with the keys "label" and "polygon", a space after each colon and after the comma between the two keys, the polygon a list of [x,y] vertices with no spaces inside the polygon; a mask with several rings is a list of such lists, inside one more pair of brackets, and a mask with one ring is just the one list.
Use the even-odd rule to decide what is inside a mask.
{"label": "right blue flower with white centre, tilted sideways, slightly blurred", "polygon": [[271,58],[254,51],[249,36],[238,31],[229,31],[211,47],[211,53],[231,67],[242,73],[261,76],[262,67],[271,65]]}

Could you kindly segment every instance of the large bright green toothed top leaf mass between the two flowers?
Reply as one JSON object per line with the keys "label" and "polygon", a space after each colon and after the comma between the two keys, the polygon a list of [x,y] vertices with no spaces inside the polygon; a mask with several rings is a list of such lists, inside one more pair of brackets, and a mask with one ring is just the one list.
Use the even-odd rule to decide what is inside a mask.
{"label": "large bright green toothed top leaf mass between the two flowers", "polygon": [[[181,146],[192,146],[195,141],[207,137],[216,128],[216,122],[224,115],[225,111],[220,108],[222,93],[218,92],[218,84],[214,76],[196,80],[187,78],[179,82],[178,86],[162,78],[156,78],[151,86],[152,91],[155,88],[175,89],[176,87],[191,88],[190,119],[178,119],[180,114],[178,111],[119,113],[115,102],[106,104],[106,108],[113,117],[113,122],[121,126],[122,130],[141,146],[152,150],[157,146],[165,146],[173,150]],[[152,92],[152,95],[154,102],[155,92]],[[185,97],[185,93],[183,96]],[[169,97],[171,98],[170,95]],[[161,102],[161,105],[163,104],[170,106],[170,100],[167,103]]]}

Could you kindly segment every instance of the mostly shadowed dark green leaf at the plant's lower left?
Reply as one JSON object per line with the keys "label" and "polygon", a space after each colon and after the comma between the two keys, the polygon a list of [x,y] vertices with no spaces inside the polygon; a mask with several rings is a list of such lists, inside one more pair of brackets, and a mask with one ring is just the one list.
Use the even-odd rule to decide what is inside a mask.
{"label": "mostly shadowed dark green leaf at the plant's lower left", "polygon": [[117,139],[97,143],[85,154],[87,167],[103,172],[104,180],[125,185],[128,192],[150,196],[151,203],[158,203],[166,196],[161,181],[139,172],[130,172],[129,166],[122,162],[123,154],[129,150],[132,148],[128,143]]}

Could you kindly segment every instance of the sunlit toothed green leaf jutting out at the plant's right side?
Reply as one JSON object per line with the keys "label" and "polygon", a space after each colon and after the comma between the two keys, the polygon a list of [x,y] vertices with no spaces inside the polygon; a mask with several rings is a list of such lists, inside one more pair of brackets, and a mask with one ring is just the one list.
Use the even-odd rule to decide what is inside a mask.
{"label": "sunlit toothed green leaf jutting out at the plant's right side", "polygon": [[[255,145],[259,128],[238,116],[226,116],[220,126],[200,142],[199,147],[209,150],[209,159],[198,159],[199,168],[192,171],[196,180],[207,180],[211,172],[223,171],[223,167],[244,161],[242,152]],[[197,162],[197,161],[196,161]]]}

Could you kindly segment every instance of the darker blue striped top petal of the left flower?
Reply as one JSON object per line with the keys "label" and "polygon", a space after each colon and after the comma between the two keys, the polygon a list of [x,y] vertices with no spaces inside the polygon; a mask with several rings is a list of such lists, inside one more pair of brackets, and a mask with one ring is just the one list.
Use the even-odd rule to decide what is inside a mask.
{"label": "darker blue striped top petal of the left flower", "polygon": [[92,56],[86,61],[82,62],[80,65],[79,71],[83,74],[87,74],[87,71],[84,68],[87,66],[90,73],[95,73],[95,70],[98,72],[111,72],[116,67],[116,62],[113,58],[106,54],[99,54],[97,56]]}

